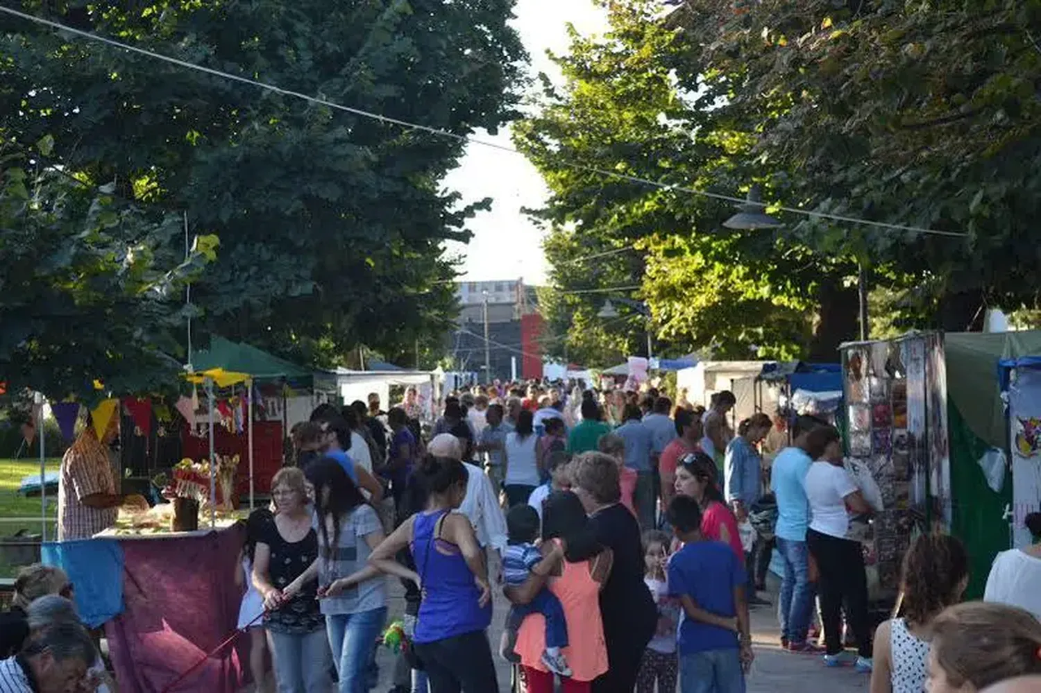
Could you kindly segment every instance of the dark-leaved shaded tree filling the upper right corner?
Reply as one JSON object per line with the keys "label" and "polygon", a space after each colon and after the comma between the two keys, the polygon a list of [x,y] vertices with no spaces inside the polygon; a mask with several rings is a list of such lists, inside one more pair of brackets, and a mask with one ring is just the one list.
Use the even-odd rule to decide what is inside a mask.
{"label": "dark-leaved shaded tree filling the upper right corner", "polygon": [[798,172],[779,197],[965,234],[793,228],[869,263],[905,326],[1036,303],[1041,3],[686,0],[672,22],[684,86],[726,94],[760,160]]}

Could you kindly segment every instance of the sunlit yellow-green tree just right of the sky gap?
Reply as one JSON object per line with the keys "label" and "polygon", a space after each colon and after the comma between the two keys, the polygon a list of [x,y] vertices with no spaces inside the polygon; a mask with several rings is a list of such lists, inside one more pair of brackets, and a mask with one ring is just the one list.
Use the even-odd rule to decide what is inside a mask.
{"label": "sunlit yellow-green tree just right of the sky gap", "polygon": [[757,175],[742,158],[751,128],[714,107],[718,95],[678,82],[696,53],[657,10],[612,3],[606,37],[573,35],[569,54],[556,58],[565,85],[547,86],[539,111],[516,128],[553,192],[539,212],[560,296],[551,324],[573,324],[567,348],[583,356],[641,353],[644,322],[601,326],[595,313],[610,292],[593,291],[642,285],[659,353],[833,356],[839,338],[827,329],[828,308],[849,304],[841,278],[855,265],[769,232],[727,232],[731,204],[632,180],[734,195]]}

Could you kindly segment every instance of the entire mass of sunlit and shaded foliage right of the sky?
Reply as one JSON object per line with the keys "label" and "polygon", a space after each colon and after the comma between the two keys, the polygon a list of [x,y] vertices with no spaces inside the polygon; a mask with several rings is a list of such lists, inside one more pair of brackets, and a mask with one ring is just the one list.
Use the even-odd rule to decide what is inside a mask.
{"label": "entire mass of sunlit and shaded foliage right of the sky", "polygon": [[[573,37],[564,87],[517,132],[553,192],[540,219],[560,290],[641,284],[665,351],[730,358],[834,360],[857,334],[859,264],[885,334],[1036,305],[1039,0],[609,8],[611,31]],[[730,232],[730,205],[590,169],[730,196],[758,182],[786,207],[954,235],[777,209],[780,230]],[[604,298],[564,296],[558,325]],[[633,353],[624,335],[600,343],[619,342]]]}

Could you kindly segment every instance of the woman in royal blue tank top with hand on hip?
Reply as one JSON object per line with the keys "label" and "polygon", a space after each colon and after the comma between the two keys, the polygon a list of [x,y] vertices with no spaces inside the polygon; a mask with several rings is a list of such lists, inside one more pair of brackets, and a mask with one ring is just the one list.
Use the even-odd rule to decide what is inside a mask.
{"label": "woman in royal blue tank top with hand on hip", "polygon": [[[413,645],[431,693],[494,693],[488,567],[469,520],[452,512],[466,495],[466,469],[457,460],[428,457],[414,473],[429,491],[426,510],[402,522],[369,561],[423,592]],[[406,546],[415,571],[395,560]]]}

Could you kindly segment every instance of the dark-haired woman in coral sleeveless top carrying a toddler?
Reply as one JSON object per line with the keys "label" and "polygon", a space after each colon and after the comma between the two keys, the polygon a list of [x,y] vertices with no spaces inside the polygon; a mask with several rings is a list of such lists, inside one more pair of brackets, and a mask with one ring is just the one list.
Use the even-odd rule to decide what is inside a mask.
{"label": "dark-haired woman in coral sleeveless top carrying a toddler", "polygon": [[[593,536],[582,502],[570,491],[555,491],[542,506],[542,553],[552,544],[564,549],[562,563],[549,572],[532,572],[528,582],[506,589],[514,604],[530,601],[543,584],[564,608],[570,644],[561,653],[572,675],[561,678],[563,693],[589,693],[592,681],[607,671],[607,643],[600,616],[600,590],[611,573],[613,554]],[[542,664],[545,624],[540,614],[525,618],[514,651],[528,693],[553,693],[553,674]]]}

